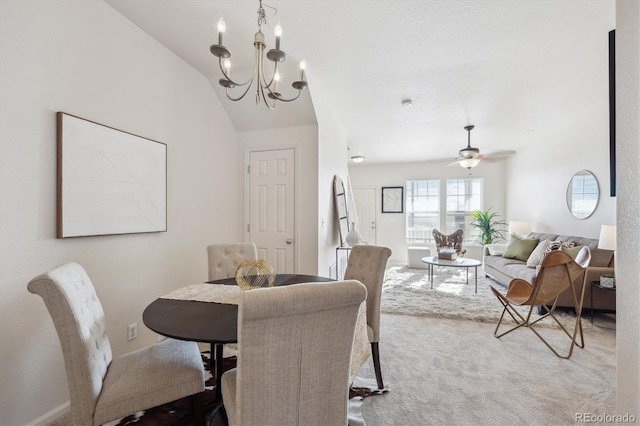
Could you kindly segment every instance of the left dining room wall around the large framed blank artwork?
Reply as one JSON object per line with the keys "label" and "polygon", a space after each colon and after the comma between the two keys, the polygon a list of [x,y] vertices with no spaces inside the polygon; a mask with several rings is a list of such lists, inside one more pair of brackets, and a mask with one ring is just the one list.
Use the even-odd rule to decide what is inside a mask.
{"label": "left dining room wall around the large framed blank artwork", "polygon": [[[115,354],[154,343],[142,311],[206,279],[206,245],[242,238],[242,150],[207,80],[101,1],[0,2],[0,424],[68,401],[35,275],[85,266]],[[56,111],[168,145],[166,233],[58,240]],[[126,325],[139,337],[126,341]]]}

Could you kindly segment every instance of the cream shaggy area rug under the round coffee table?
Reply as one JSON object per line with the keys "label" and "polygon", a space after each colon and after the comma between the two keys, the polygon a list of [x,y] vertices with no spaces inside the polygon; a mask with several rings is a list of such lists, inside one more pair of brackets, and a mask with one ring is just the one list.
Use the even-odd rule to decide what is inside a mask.
{"label": "cream shaggy area rug under the round coffee table", "polygon": [[[435,268],[433,288],[426,269],[410,269],[406,266],[391,266],[387,269],[382,287],[380,310],[384,313],[426,316],[432,318],[464,319],[497,323],[502,313],[502,304],[491,292],[491,286],[501,293],[507,288],[497,281],[485,277],[482,267],[478,268],[478,292],[475,292],[475,273],[466,268]],[[528,308],[518,308],[526,316]],[[571,312],[558,312],[557,316],[567,325],[575,323]],[[511,318],[506,322],[512,322]],[[539,318],[534,313],[534,319]],[[573,319],[573,321],[572,321]],[[539,326],[556,327],[555,322],[546,318]],[[588,327],[583,321],[583,327]]]}

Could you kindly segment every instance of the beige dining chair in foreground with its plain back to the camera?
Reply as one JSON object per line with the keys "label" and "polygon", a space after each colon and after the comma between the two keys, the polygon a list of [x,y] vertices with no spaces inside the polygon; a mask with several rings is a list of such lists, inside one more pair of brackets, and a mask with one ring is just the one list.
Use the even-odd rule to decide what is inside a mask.
{"label": "beige dining chair in foreground with its plain back to the camera", "polygon": [[222,375],[229,425],[346,425],[357,281],[245,291],[237,367]]}

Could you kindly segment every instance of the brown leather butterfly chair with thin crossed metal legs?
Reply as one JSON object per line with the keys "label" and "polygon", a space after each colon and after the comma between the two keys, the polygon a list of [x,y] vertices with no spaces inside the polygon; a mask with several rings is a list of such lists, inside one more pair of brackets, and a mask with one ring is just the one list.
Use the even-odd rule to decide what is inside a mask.
{"label": "brown leather butterfly chair with thin crossed metal legs", "polygon": [[[588,248],[586,248],[586,250],[588,250]],[[586,257],[582,257],[580,261],[583,265],[586,264],[588,266],[586,259],[590,258],[590,254],[585,254],[585,256]],[[538,336],[556,356],[564,359],[570,358],[573,354],[573,348],[576,345],[584,348],[584,334],[582,332],[580,317],[582,315],[582,303],[584,301],[586,288],[585,279],[583,278],[579,296],[573,285],[574,281],[584,276],[584,267],[576,263],[571,256],[562,251],[552,251],[543,259],[533,284],[529,284],[529,282],[520,278],[513,279],[509,283],[506,294],[502,294],[498,289],[491,286],[491,291],[503,306],[502,314],[493,333],[494,336],[500,338],[520,327],[526,327]],[[571,291],[576,311],[576,323],[573,328],[573,333],[569,333],[567,328],[555,315],[558,296],[566,290]],[[532,314],[534,313],[534,307],[536,305],[542,307],[544,314],[534,319]],[[521,306],[527,308],[524,316],[516,309]],[[513,321],[515,321],[515,326],[499,333],[500,325],[502,325],[505,319],[505,314],[509,314]],[[560,354],[537,330],[537,323],[545,318],[553,319],[560,329],[569,337],[570,345],[566,354]],[[579,342],[577,339],[578,332],[580,333]]]}

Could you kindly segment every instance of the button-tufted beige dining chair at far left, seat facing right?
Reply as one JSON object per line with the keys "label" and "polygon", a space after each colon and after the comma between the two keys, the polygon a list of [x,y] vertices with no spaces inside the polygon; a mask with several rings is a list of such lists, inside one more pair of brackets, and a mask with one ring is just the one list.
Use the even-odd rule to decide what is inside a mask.
{"label": "button-tufted beige dining chair at far left, seat facing right", "polygon": [[[72,424],[101,425],[204,391],[204,367],[195,342],[167,339],[113,358],[102,305],[79,264],[41,274],[27,288],[42,297],[58,332]],[[203,422],[203,414],[198,414],[196,420]]]}

